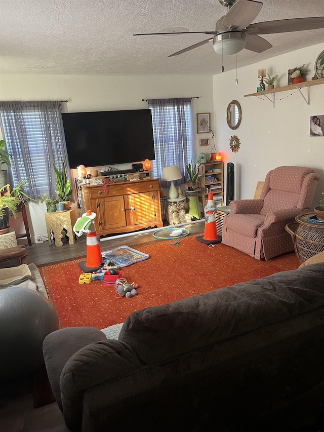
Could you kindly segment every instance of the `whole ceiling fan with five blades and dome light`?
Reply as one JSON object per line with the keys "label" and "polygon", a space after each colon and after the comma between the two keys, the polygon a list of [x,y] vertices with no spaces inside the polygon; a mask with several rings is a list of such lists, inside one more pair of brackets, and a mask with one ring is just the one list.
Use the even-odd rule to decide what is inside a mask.
{"label": "whole ceiling fan with five blades and dome light", "polygon": [[211,36],[205,41],[198,42],[168,57],[190,51],[194,48],[213,41],[216,53],[224,55],[236,54],[242,49],[262,53],[272,45],[259,34],[284,33],[290,31],[313,30],[324,28],[324,17],[292,18],[276,21],[265,21],[251,24],[262,8],[261,2],[254,0],[218,0],[227,7],[226,15],[216,22],[215,31],[169,31],[159,33],[137,33],[133,36],[203,33]]}

